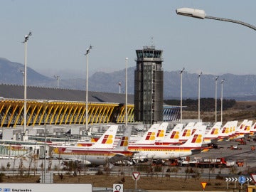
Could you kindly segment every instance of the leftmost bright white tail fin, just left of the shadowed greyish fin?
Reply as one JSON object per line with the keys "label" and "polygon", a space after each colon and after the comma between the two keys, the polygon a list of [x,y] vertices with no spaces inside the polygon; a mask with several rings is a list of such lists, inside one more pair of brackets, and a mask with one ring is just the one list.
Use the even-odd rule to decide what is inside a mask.
{"label": "leftmost bright white tail fin, just left of the shadowed greyish fin", "polygon": [[114,147],[114,137],[117,134],[118,125],[110,125],[107,131],[102,134],[102,137],[97,140],[95,144],[92,146],[88,146],[90,148],[101,148],[101,149],[111,149]]}

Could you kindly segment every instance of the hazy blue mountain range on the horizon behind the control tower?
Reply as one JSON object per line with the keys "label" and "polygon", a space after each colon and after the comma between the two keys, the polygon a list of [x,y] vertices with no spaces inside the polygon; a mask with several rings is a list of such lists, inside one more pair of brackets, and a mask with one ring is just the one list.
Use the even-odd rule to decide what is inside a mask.
{"label": "hazy blue mountain range on the horizon behind the control tower", "polygon": [[[135,63],[134,63],[135,65]],[[0,58],[0,83],[22,85],[23,64]],[[128,92],[134,94],[135,66],[128,68]],[[60,74],[61,77],[61,74]],[[220,80],[223,83],[223,97],[235,100],[256,100],[256,75],[220,75],[218,80],[218,97],[220,97]],[[89,78],[89,90],[97,92],[125,92],[125,69],[112,73],[97,72]],[[60,88],[85,90],[85,79],[60,79]],[[57,87],[54,78],[41,75],[27,68],[27,85],[39,87]],[[179,71],[164,71],[164,98],[178,99],[180,97],[181,77]],[[183,72],[183,99],[198,97],[198,74]],[[215,75],[201,75],[201,97],[215,97]]]}

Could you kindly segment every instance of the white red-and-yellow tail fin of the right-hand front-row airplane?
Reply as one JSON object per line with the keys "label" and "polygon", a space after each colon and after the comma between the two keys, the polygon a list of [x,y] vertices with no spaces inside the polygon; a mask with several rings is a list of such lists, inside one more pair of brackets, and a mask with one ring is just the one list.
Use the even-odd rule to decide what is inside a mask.
{"label": "white red-and-yellow tail fin of the right-hand front-row airplane", "polygon": [[189,139],[181,146],[192,147],[192,148],[201,147],[203,144],[203,137],[205,132],[206,132],[206,125],[201,125],[200,127],[198,127],[198,129],[196,129],[196,132],[191,137],[189,137]]}

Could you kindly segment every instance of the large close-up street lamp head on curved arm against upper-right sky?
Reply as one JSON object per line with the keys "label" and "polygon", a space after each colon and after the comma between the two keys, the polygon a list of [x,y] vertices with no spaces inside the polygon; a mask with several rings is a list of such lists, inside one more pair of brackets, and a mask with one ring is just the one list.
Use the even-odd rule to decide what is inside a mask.
{"label": "large close-up street lamp head on curved arm against upper-right sky", "polygon": [[201,18],[201,19],[209,18],[209,19],[214,19],[214,20],[218,20],[218,21],[227,21],[227,22],[231,22],[231,23],[238,23],[242,26],[247,26],[247,27],[252,28],[253,30],[256,31],[256,27],[250,25],[249,23],[233,20],[233,19],[230,19],[230,18],[220,18],[220,17],[215,17],[215,16],[206,16],[206,12],[204,10],[201,10],[201,9],[181,8],[181,9],[176,9],[176,14],[182,15],[182,16],[190,16],[190,17],[194,17],[194,18]]}

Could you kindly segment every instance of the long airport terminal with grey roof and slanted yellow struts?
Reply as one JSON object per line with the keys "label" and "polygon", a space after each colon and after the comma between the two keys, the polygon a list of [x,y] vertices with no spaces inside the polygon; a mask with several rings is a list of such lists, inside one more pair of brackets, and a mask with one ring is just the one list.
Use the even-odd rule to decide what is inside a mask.
{"label": "long airport terminal with grey roof and slanted yellow struts", "polygon": [[[22,85],[0,85],[0,126],[23,126]],[[85,124],[85,90],[27,87],[27,126]],[[180,107],[163,105],[163,121],[178,121]],[[134,95],[127,95],[127,121],[134,119]],[[125,95],[88,92],[88,123],[124,123]]]}

